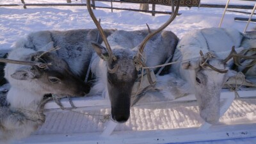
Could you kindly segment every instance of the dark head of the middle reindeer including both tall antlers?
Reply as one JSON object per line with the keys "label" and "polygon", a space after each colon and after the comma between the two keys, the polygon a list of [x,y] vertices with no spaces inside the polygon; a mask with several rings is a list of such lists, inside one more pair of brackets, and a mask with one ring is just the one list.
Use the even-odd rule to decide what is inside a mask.
{"label": "dark head of the middle reindeer including both tall antlers", "polygon": [[[111,101],[111,115],[113,120],[116,122],[126,122],[129,119],[130,115],[130,105],[131,105],[131,92],[132,86],[134,85],[135,80],[137,79],[138,72],[136,70],[136,65],[140,64],[145,67],[145,63],[141,58],[141,53],[147,43],[147,41],[162,31],[166,26],[168,26],[177,15],[179,10],[179,1],[177,7],[174,11],[174,4],[172,1],[172,16],[170,19],[163,24],[159,29],[154,31],[154,33],[149,33],[143,42],[138,45],[139,50],[138,54],[132,52],[130,49],[124,49],[120,46],[118,49],[111,50],[111,47],[108,44],[108,40],[104,35],[104,32],[93,14],[92,8],[90,6],[90,0],[87,0],[87,8],[90,13],[93,22],[100,31],[100,35],[106,45],[106,48],[102,45],[93,44],[93,48],[97,52],[98,56],[106,61],[108,68],[108,93],[109,99]],[[148,80],[150,81],[150,72],[147,69]]]}

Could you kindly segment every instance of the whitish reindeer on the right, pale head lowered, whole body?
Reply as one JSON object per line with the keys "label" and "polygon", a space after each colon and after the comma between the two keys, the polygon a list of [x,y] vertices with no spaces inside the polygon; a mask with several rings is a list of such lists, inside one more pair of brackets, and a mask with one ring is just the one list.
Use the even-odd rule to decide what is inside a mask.
{"label": "whitish reindeer on the right, pale head lowered, whole body", "polygon": [[[235,51],[234,47],[248,48],[248,45],[243,44],[245,39],[236,29],[205,28],[187,33],[175,49],[172,62],[177,63],[173,63],[169,75],[158,77],[156,87],[164,89],[167,86],[169,90],[163,90],[162,93],[169,91],[175,97],[194,93],[200,116],[205,122],[215,124],[220,118],[221,88],[228,77],[237,74],[230,70],[228,61],[233,57],[234,61],[237,58],[256,58]],[[175,80],[174,77],[179,78]]]}

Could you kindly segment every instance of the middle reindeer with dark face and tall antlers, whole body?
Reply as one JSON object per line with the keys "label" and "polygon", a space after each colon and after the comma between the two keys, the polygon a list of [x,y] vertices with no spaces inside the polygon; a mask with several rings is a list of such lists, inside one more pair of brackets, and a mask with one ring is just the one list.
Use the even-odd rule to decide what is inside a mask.
{"label": "middle reindeer with dark face and tall antlers, whole body", "polygon": [[[102,92],[108,95],[111,102],[111,118],[118,123],[126,122],[130,115],[131,92],[134,81],[138,77],[138,64],[154,66],[164,63],[172,56],[178,38],[172,31],[162,31],[177,15],[179,4],[174,12],[172,4],[172,16],[161,28],[152,33],[141,31],[116,31],[111,36],[104,36],[103,30],[95,18],[90,0],[87,1],[88,11],[104,40],[104,44],[93,43],[96,52],[92,60],[92,72],[97,76],[97,83],[91,93]],[[152,38],[152,39],[150,39]],[[140,44],[141,42],[141,44]],[[148,43],[147,43],[148,42]],[[147,45],[146,45],[147,43]],[[110,46],[112,49],[110,48]],[[143,51],[144,47],[145,51]],[[141,60],[141,56],[147,61]],[[156,72],[156,68],[154,69]],[[148,81],[151,84],[149,70]]]}

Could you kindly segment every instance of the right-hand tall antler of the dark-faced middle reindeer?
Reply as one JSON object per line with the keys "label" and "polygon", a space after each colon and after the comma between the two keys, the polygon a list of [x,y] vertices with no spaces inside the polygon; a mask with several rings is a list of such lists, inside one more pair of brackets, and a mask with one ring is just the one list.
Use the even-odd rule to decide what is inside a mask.
{"label": "right-hand tall antler of the dark-faced middle reindeer", "polygon": [[139,51],[140,53],[143,52],[143,49],[145,47],[145,45],[147,44],[147,41],[152,38],[152,36],[156,35],[157,33],[159,33],[160,31],[162,31],[164,28],[166,28],[174,19],[175,17],[177,16],[178,14],[178,11],[179,11],[179,6],[180,6],[180,0],[178,0],[178,3],[177,3],[177,6],[175,8],[175,11],[174,11],[174,2],[173,0],[171,1],[172,3],[172,15],[170,17],[170,19],[167,20],[167,22],[165,22],[160,28],[158,28],[156,31],[154,31],[153,33],[149,33],[146,38],[143,40],[143,42],[141,42],[140,44],[140,48],[139,48]]}

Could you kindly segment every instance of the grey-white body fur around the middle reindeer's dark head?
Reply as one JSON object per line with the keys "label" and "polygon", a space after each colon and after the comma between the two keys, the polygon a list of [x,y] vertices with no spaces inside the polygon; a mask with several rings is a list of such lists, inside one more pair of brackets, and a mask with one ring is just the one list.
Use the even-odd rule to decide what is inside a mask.
{"label": "grey-white body fur around the middle reindeer's dark head", "polygon": [[[145,38],[145,34],[147,35],[147,30],[115,31],[115,33],[108,36],[108,42],[114,55],[120,55],[121,52],[126,51],[131,56],[135,56],[138,51],[138,45]],[[146,64],[148,67],[159,65],[163,62],[164,58],[172,57],[174,51],[172,45],[175,43],[175,40],[173,35],[170,35],[172,35],[170,32],[165,31],[148,40],[143,51],[147,57]],[[168,40],[163,40],[163,38]],[[102,46],[105,46],[104,42],[102,42]],[[120,51],[115,51],[116,49]],[[161,49],[161,51],[159,51],[159,49]],[[170,51],[170,49],[172,50]],[[107,72],[107,62],[100,59],[97,54],[94,54],[92,58],[92,73],[97,77],[97,83],[92,87],[89,95],[93,95],[94,93],[102,93],[103,97],[106,97],[104,95],[108,95]]]}

